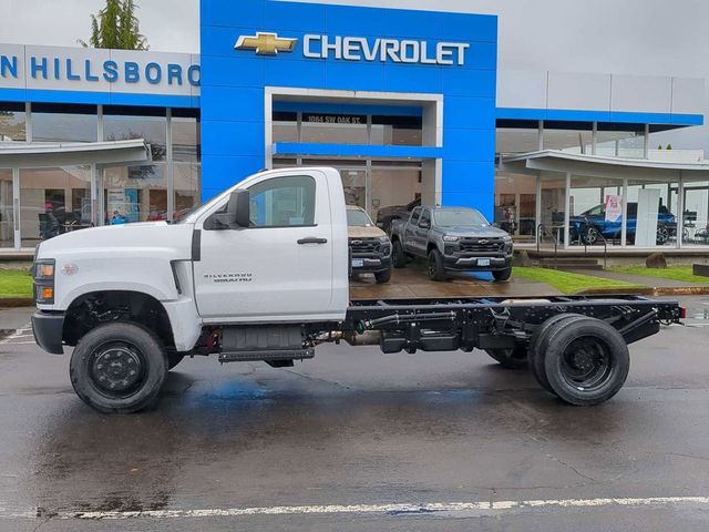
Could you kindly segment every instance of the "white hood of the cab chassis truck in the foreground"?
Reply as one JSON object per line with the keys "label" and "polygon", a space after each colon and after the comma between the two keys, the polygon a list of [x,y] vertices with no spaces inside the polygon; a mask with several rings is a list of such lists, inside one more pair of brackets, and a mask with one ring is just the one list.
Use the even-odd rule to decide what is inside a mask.
{"label": "white hood of the cab chassis truck in the foreground", "polygon": [[116,253],[144,250],[162,254],[166,259],[186,260],[192,256],[192,224],[144,222],[137,224],[106,225],[65,233],[42,242],[39,258],[86,255],[115,256]]}

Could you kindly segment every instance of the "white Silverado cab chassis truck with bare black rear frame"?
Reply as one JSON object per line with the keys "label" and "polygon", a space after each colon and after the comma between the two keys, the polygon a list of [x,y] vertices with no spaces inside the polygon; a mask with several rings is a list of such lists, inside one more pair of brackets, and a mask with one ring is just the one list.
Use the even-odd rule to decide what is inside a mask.
{"label": "white Silverado cab chassis truck with bare black rear frame", "polygon": [[43,242],[34,338],[51,354],[74,348],[72,386],[101,412],[151,405],[184,357],[286,367],[340,340],[386,354],[479,348],[588,406],[624,385],[627,344],[684,317],[636,296],[350,300],[349,260],[338,172],[260,172],[176,223]]}

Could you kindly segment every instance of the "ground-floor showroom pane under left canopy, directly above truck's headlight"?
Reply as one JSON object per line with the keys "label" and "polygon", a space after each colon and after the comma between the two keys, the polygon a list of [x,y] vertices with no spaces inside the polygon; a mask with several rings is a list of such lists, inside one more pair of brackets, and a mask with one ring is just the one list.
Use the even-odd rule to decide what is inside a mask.
{"label": "ground-floor showroom pane under left canopy, directly above truck's headlight", "polygon": [[21,246],[34,247],[62,233],[91,226],[90,184],[88,165],[21,168]]}

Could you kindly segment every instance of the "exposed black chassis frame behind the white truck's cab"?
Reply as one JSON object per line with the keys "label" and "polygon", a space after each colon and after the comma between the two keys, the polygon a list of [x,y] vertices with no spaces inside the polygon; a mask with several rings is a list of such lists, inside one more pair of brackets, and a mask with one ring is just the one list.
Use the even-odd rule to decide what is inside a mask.
{"label": "exposed black chassis frame behind the white truck's cab", "polygon": [[511,349],[528,344],[546,319],[563,313],[600,319],[627,344],[685,317],[677,301],[627,295],[360,299],[351,303],[340,330],[346,339],[379,331],[383,352]]}

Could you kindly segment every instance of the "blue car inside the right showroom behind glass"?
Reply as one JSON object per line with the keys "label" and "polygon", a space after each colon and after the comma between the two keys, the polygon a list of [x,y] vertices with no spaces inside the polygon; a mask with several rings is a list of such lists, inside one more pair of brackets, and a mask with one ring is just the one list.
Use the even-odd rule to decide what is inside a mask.
{"label": "blue car inside the right showroom behind glass", "polygon": [[[626,229],[626,239],[628,244],[635,243],[635,229],[638,219],[638,204],[628,203],[628,223]],[[580,241],[582,244],[592,246],[598,244],[602,237],[606,241],[620,239],[621,218],[615,222],[606,221],[606,206],[604,204],[596,205],[593,208],[572,216],[569,223],[569,238],[572,242]],[[670,213],[665,205],[660,205],[657,213],[657,244],[662,245],[677,233],[677,221],[675,215]]]}

